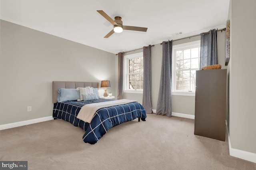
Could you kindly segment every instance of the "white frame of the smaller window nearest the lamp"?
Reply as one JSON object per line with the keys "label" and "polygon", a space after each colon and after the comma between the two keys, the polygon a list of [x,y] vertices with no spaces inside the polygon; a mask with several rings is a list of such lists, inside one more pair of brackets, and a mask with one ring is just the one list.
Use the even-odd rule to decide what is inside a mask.
{"label": "white frame of the smaller window nearest the lamp", "polygon": [[134,53],[134,54],[129,54],[129,55],[124,55],[124,82],[123,82],[123,88],[124,88],[124,93],[143,93],[143,89],[127,89],[127,83],[128,83],[128,60],[132,58],[138,58],[138,57],[143,57],[143,52],[140,53]]}

